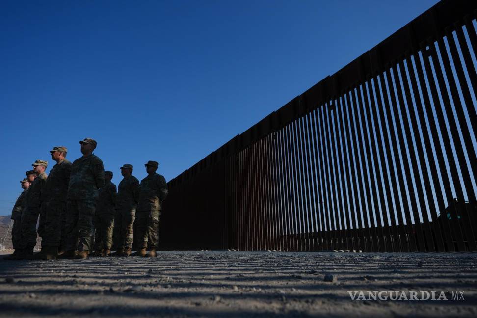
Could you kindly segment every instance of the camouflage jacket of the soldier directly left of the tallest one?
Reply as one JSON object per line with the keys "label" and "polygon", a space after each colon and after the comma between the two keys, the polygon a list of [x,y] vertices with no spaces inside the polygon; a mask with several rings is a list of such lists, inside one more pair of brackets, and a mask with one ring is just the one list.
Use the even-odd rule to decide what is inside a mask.
{"label": "camouflage jacket of the soldier directly left of the tallest one", "polygon": [[48,175],[41,200],[46,202],[66,202],[70,182],[71,162],[64,159],[56,163]]}

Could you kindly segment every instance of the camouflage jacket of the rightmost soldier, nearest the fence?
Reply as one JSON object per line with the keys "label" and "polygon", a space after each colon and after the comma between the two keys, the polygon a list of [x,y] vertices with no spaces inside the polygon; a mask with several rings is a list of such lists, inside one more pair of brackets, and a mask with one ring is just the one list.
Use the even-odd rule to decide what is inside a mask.
{"label": "camouflage jacket of the rightmost soldier, nearest the fence", "polygon": [[159,210],[167,196],[167,184],[160,174],[155,173],[141,180],[137,210]]}

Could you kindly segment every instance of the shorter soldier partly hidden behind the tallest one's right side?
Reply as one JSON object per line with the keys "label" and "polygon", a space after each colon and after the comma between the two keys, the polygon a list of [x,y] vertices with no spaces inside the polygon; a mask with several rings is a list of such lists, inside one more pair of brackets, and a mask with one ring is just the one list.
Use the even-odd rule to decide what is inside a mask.
{"label": "shorter soldier partly hidden behind the tallest one's right side", "polygon": [[99,189],[98,206],[95,212],[95,256],[109,256],[112,245],[116,185],[111,182],[112,171],[105,171],[105,186]]}

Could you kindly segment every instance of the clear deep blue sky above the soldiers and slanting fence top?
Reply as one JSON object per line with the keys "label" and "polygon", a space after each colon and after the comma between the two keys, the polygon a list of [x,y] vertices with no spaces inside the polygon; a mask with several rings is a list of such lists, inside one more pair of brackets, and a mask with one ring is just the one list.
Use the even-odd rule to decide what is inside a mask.
{"label": "clear deep blue sky above the soldiers and slanting fence top", "polygon": [[85,137],[170,180],[436,2],[0,1],[0,215]]}

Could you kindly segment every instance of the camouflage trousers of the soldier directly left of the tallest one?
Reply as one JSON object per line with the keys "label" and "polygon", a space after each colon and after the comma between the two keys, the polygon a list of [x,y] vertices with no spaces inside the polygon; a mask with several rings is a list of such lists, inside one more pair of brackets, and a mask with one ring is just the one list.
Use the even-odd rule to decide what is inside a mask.
{"label": "camouflage trousers of the soldier directly left of the tallest one", "polygon": [[[45,205],[45,221],[41,247],[58,247],[59,250],[66,248],[66,203],[50,202]],[[41,214],[40,214],[41,219]],[[38,234],[40,228],[38,227]],[[40,234],[41,235],[41,234]]]}

